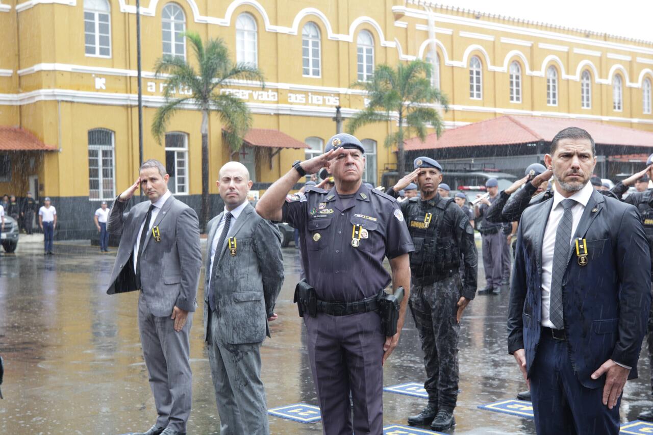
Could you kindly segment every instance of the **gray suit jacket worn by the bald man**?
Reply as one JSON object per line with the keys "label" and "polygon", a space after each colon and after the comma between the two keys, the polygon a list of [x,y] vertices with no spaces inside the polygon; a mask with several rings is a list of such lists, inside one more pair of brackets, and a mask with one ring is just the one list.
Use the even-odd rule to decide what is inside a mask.
{"label": "gray suit jacket worn by the bald man", "polygon": [[[204,274],[204,340],[208,338],[208,282],[211,276],[211,246],[219,238],[217,226],[224,212],[207,226],[206,273]],[[231,255],[229,237],[236,238],[236,255]],[[228,344],[263,342],[270,336],[268,317],[283,284],[281,237],[272,223],[247,204],[229,228],[225,244],[215,251],[217,269],[211,291],[217,312],[219,339]]]}

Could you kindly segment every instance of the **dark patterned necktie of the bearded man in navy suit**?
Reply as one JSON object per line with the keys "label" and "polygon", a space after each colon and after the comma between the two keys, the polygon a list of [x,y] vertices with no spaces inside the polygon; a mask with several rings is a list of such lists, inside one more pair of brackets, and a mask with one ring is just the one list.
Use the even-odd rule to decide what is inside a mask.
{"label": "dark patterned necktie of the bearded man in navy suit", "polygon": [[571,225],[573,215],[571,207],[576,204],[573,199],[565,199],[560,202],[565,209],[562,219],[558,223],[556,231],[556,245],[553,250],[553,270],[551,275],[551,299],[549,305],[549,319],[555,329],[564,329],[564,318],[562,315],[562,277],[567,270],[569,263],[569,246],[571,245]]}

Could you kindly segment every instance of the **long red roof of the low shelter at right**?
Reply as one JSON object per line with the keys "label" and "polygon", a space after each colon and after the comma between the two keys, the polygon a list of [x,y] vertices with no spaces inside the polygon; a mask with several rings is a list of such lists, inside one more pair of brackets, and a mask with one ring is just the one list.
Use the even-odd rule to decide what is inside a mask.
{"label": "long red roof of the low shelter at right", "polygon": [[571,118],[507,115],[447,130],[439,139],[435,133],[424,142],[410,138],[406,140],[406,151],[550,142],[558,131],[571,126],[587,130],[597,144],[653,146],[653,132]]}

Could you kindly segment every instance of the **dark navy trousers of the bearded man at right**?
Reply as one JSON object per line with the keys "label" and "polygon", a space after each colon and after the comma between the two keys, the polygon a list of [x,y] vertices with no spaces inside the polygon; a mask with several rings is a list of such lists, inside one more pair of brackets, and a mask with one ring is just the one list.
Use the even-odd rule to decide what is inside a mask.
{"label": "dark navy trousers of the bearded man at right", "polygon": [[565,340],[543,333],[530,374],[538,435],[617,435],[619,406],[603,404],[603,387],[584,387],[574,374]]}

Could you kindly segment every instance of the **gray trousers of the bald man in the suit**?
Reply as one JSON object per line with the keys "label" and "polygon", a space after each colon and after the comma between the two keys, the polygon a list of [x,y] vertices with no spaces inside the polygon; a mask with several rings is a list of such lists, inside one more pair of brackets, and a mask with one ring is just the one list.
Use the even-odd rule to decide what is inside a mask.
{"label": "gray trousers of the bald man in the suit", "polygon": [[261,381],[261,343],[227,344],[209,317],[208,359],[220,415],[221,435],[268,435],[268,409]]}

